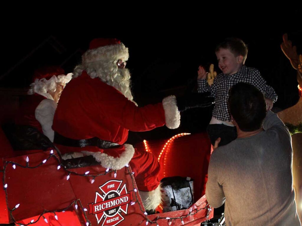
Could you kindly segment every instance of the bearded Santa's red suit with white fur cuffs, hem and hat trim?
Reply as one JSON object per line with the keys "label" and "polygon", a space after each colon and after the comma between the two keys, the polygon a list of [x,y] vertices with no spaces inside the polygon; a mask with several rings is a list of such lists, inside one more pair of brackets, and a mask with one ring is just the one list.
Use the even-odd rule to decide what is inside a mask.
{"label": "bearded Santa's red suit with white fur cuffs, hem and hat trim", "polygon": [[[126,61],[127,57],[123,59],[124,53],[118,56],[121,48],[124,52],[127,50],[119,42],[100,47],[93,46],[92,56],[89,56],[91,50],[84,54],[83,65],[88,57],[97,61],[102,57],[111,56],[113,65],[116,65],[115,62],[120,58]],[[54,143],[62,154],[82,151],[93,155],[103,167],[113,170],[121,169],[130,162],[145,208],[156,208],[161,201],[157,178],[159,163],[152,154],[139,152],[132,145],[124,143],[128,137],[128,130],[147,131],[164,125],[171,129],[177,128],[180,124],[180,114],[175,96],[164,98],[162,103],[137,107],[129,97],[125,97],[119,90],[109,85],[110,82],[106,82],[106,78],[93,76],[91,68],[83,68],[82,73],[67,84],[60,97],[53,119],[53,130],[56,133]],[[90,75],[87,72],[89,70]],[[56,142],[57,134],[73,140],[99,138],[120,146],[99,148],[60,145]]]}

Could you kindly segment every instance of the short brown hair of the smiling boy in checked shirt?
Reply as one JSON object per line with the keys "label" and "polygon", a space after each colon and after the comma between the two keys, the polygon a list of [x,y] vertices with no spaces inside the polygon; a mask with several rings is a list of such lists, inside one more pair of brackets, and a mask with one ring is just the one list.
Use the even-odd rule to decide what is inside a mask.
{"label": "short brown hair of the smiling boy in checked shirt", "polygon": [[243,64],[246,61],[248,49],[243,40],[239,38],[226,38],[216,46],[215,52],[218,52],[220,49],[230,49],[235,56],[243,56]]}

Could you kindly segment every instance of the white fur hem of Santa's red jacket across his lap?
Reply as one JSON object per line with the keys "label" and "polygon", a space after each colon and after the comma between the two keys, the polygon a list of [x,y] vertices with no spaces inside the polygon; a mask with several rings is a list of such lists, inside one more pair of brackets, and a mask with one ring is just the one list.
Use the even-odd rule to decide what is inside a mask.
{"label": "white fur hem of Santa's red jacket across his lap", "polygon": [[101,163],[102,167],[112,170],[120,170],[125,167],[133,157],[134,148],[130,144],[124,144],[125,151],[120,154],[119,158],[114,158],[106,153],[82,151],[85,154],[92,155],[96,161]]}

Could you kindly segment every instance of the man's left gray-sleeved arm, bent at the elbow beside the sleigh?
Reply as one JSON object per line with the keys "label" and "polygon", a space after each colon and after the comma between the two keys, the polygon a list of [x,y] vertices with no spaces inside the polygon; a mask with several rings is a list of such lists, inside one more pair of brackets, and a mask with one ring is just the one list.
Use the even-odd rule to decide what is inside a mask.
{"label": "man's left gray-sleeved arm, bent at the elbow beside the sleigh", "polygon": [[214,208],[220,207],[225,202],[222,185],[220,185],[218,182],[218,170],[215,162],[215,151],[213,152],[209,163],[206,197],[208,203]]}

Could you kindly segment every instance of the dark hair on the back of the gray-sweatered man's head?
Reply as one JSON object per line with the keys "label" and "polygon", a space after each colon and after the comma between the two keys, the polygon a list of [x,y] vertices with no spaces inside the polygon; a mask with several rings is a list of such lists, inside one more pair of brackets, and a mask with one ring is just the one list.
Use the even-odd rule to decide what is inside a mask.
{"label": "dark hair on the back of the gray-sweatered man's head", "polygon": [[230,89],[230,113],[245,132],[261,128],[266,116],[264,96],[255,86],[239,82]]}

